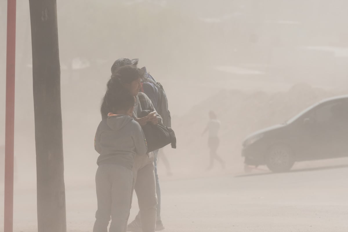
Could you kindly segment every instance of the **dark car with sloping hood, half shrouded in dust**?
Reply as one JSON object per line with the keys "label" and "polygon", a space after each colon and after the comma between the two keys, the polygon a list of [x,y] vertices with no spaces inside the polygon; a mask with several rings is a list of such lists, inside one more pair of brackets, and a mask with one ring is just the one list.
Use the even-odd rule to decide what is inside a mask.
{"label": "dark car with sloping hood, half shrouded in dust", "polygon": [[246,138],[245,164],[288,171],[294,162],[348,156],[348,95],[310,106],[281,125]]}

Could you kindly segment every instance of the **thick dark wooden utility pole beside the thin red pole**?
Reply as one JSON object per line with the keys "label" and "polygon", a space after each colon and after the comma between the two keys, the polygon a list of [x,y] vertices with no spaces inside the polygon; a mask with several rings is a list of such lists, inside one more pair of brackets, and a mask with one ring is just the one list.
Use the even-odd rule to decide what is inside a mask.
{"label": "thick dark wooden utility pole beside the thin red pole", "polygon": [[29,0],[38,232],[66,232],[56,0]]}

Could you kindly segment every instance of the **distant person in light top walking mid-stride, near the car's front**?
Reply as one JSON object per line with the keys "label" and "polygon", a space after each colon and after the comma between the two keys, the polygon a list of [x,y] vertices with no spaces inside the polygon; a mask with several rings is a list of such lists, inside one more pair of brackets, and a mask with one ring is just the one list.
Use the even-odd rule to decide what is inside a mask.
{"label": "distant person in light top walking mid-stride, near the car's front", "polygon": [[209,153],[210,153],[210,164],[207,168],[207,170],[210,170],[214,166],[214,160],[217,160],[220,162],[222,169],[225,168],[225,162],[219,157],[216,153],[217,149],[219,148],[220,139],[219,139],[219,130],[221,123],[219,120],[217,120],[216,114],[213,111],[209,112],[209,122],[205,130],[203,131],[202,135],[204,135],[208,131],[208,146],[209,146]]}

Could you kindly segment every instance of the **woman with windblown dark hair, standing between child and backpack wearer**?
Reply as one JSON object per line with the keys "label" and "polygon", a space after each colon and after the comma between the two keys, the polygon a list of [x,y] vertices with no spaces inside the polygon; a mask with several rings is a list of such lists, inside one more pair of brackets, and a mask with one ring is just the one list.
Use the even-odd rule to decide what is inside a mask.
{"label": "woman with windblown dark hair, standing between child and backpack wearer", "polygon": [[[114,68],[113,65],[111,75],[111,80],[113,80],[116,86],[114,91],[130,94],[136,98],[133,110],[134,120],[141,126],[145,126],[148,123],[152,125],[161,123],[162,119],[158,114],[151,114],[149,117],[139,117],[142,111],[155,111],[150,99],[145,94],[139,92],[143,72],[134,65],[118,66],[117,64],[116,62],[117,68]],[[101,106],[102,118],[108,117],[108,111],[108,102],[104,100]],[[138,197],[143,232],[154,232],[156,228],[157,196],[153,160],[153,152],[149,152],[147,155],[137,155],[132,169],[133,189]],[[129,202],[130,206],[131,203],[132,197]]]}

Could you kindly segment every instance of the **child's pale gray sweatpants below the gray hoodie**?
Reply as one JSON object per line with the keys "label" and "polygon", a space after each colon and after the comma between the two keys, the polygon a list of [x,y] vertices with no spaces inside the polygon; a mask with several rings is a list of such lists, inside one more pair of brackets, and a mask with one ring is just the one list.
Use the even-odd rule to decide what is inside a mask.
{"label": "child's pale gray sweatpants below the gray hoodie", "polygon": [[116,164],[103,164],[95,175],[98,209],[93,232],[126,232],[133,171]]}

